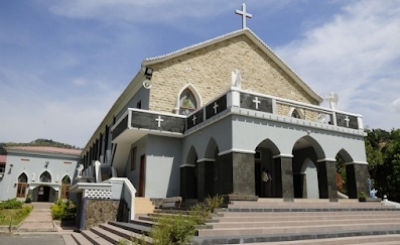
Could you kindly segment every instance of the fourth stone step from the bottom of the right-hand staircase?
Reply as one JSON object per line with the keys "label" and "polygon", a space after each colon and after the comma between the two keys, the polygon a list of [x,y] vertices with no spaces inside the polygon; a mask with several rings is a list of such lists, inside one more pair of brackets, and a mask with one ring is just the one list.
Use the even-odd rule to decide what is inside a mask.
{"label": "fourth stone step from the bottom of the right-hand staircase", "polygon": [[348,220],[303,220],[303,221],[263,221],[263,222],[219,222],[219,223],[206,223],[213,229],[242,229],[242,228],[277,228],[277,227],[303,227],[303,226],[326,226],[326,225],[372,225],[385,223],[396,223],[399,219],[348,219]]}

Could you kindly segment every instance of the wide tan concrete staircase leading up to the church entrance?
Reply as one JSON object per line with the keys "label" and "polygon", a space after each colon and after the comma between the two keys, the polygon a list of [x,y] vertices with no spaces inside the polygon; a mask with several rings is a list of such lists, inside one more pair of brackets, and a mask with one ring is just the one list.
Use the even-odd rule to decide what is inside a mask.
{"label": "wide tan concrete staircase leading up to the church entrance", "polygon": [[[66,244],[116,244],[148,237],[154,217],[175,210],[155,210],[132,223],[109,222],[65,236]],[[180,211],[184,213],[185,211]],[[400,209],[357,200],[260,199],[233,202],[199,227],[193,244],[400,244]]]}

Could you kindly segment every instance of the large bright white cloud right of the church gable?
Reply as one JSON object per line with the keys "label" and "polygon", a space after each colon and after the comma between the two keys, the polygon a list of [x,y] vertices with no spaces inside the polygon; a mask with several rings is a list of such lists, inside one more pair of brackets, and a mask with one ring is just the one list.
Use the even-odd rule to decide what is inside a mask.
{"label": "large bright white cloud right of the church gable", "polygon": [[363,114],[372,127],[398,127],[389,105],[400,89],[400,5],[352,3],[277,53],[318,93],[337,92],[339,109]]}

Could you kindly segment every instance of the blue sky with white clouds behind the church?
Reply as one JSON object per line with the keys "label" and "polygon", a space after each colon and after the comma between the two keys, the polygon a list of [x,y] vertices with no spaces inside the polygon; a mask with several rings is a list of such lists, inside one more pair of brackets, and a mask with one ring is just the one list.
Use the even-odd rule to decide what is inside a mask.
{"label": "blue sky with white clouds behind the church", "polygon": [[[242,3],[0,1],[0,142],[83,147],[143,59],[240,29]],[[400,127],[400,1],[245,3],[247,26],[320,96]]]}

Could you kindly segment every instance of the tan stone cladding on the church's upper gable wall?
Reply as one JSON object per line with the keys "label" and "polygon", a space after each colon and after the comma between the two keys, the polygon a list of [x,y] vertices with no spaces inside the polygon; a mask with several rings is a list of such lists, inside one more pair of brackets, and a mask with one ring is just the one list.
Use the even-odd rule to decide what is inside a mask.
{"label": "tan stone cladding on the church's upper gable wall", "polygon": [[[173,112],[179,91],[191,83],[203,104],[231,87],[231,72],[239,69],[242,89],[317,105],[247,36],[218,42],[152,66],[150,110]],[[279,114],[287,115],[287,110]]]}

